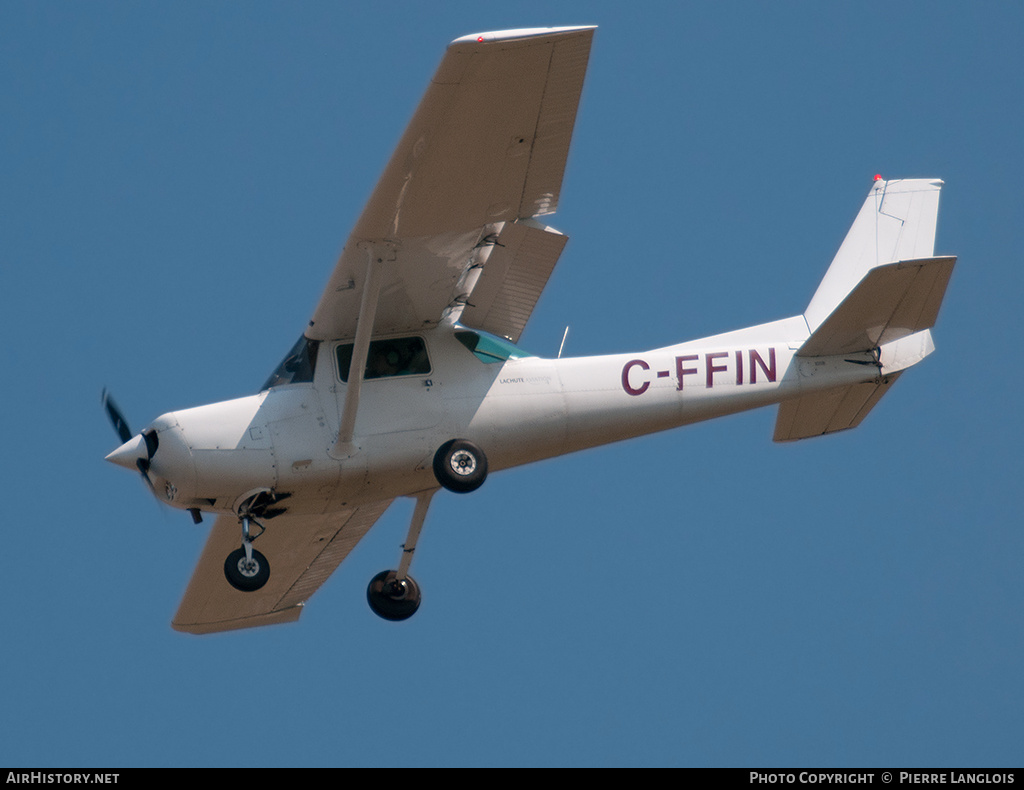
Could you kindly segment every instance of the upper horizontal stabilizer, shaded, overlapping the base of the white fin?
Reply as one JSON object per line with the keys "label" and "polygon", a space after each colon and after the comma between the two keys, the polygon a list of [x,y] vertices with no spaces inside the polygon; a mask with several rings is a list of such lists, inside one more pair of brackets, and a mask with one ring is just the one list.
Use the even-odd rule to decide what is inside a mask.
{"label": "upper horizontal stabilizer, shaded, overlapping the base of the white fin", "polygon": [[941,257],[876,266],[814,330],[799,356],[865,351],[931,329],[955,262]]}

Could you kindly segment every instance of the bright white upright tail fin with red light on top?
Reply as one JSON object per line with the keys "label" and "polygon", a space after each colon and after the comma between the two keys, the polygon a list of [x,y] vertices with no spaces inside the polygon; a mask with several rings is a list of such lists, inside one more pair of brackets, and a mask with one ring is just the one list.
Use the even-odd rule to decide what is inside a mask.
{"label": "bright white upright tail fin with red light on top", "polygon": [[877,180],[804,317],[813,333],[872,268],[935,253],[942,181]]}

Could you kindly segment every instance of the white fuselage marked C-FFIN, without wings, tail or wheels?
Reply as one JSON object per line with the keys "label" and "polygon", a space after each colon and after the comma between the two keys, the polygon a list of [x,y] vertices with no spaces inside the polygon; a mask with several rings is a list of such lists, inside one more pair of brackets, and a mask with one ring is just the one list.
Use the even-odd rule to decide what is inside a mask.
{"label": "white fuselage marked C-FFIN, without wings, tail or wheels", "polygon": [[[335,441],[346,341],[318,343],[308,380],[155,420],[143,431],[159,440],[150,477],[158,498],[184,509],[237,513],[262,491],[293,513],[330,512],[435,488],[434,453],[453,438],[482,448],[494,471],[880,375],[867,355],[797,358],[807,334],[795,317],[648,351],[557,360],[477,343],[472,336],[486,336],[451,326],[375,339],[380,369],[371,373],[372,357],[343,451]],[[415,362],[392,350],[407,347]]]}

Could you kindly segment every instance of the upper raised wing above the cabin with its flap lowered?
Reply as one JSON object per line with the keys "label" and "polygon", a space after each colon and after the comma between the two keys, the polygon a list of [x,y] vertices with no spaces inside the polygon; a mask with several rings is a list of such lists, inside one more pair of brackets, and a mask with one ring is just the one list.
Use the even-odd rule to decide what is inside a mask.
{"label": "upper raised wing above the cabin with its flap lowered", "polygon": [[[373,334],[461,318],[518,339],[565,244],[534,218],[558,205],[593,34],[548,28],[452,42],[307,337],[354,337],[370,290],[376,310],[364,315]],[[382,271],[367,289],[371,258]],[[485,303],[476,303],[477,293]]]}

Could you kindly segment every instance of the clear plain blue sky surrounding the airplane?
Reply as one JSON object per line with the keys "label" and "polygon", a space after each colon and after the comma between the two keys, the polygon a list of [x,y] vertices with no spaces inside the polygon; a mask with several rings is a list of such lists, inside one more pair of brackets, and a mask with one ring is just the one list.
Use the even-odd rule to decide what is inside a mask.
{"label": "clear plain blue sky surrounding the airplane", "polygon": [[[1016,3],[0,5],[0,764],[1019,765]],[[102,461],[305,325],[446,43],[598,25],[522,344],[799,314],[874,173],[941,177],[937,352],[865,423],[774,410],[396,503],[298,624],[169,621],[205,527]],[[209,522],[208,522],[209,523]]]}

